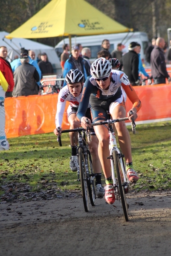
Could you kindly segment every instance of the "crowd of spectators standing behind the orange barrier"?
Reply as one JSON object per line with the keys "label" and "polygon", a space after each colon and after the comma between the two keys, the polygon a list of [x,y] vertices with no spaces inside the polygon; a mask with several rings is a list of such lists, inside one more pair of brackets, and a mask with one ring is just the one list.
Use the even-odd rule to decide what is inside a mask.
{"label": "crowd of spectators standing behind the orange barrier", "polygon": [[[128,76],[130,83],[133,86],[141,85],[140,74],[146,77],[146,79],[149,78],[149,74],[145,71],[140,56],[141,45],[137,42],[131,42],[128,52],[125,54],[122,52],[124,47],[122,43],[119,43],[116,49],[110,52],[110,41],[104,39],[101,42],[101,50],[97,52],[97,58],[116,59],[116,61],[120,62],[119,70],[123,70]],[[9,85],[6,91],[0,87],[0,99],[3,102],[5,97],[37,95],[43,76],[54,74],[53,66],[49,62],[46,52],[38,54],[35,60],[36,55],[32,49],[21,48],[20,57],[16,55],[11,63],[6,60],[7,55],[7,48],[0,46],[0,71]],[[61,77],[64,78],[71,69],[78,69],[84,74],[84,79],[86,80],[90,76],[90,58],[90,48],[83,48],[81,44],[75,44],[70,51],[70,46],[64,44],[61,54]],[[167,43],[163,38],[152,38],[151,44],[145,50],[145,58],[146,64],[151,68],[153,84],[165,84],[167,80],[170,82],[166,64],[171,63],[171,41],[170,46],[167,47]],[[64,82],[63,86],[65,85]],[[2,102],[0,106],[0,117],[2,120],[5,120]],[[3,136],[0,136],[3,138],[3,143],[1,142],[1,144],[3,144],[3,149],[8,149],[9,144],[6,140],[4,129]],[[0,150],[3,149],[0,146]]]}

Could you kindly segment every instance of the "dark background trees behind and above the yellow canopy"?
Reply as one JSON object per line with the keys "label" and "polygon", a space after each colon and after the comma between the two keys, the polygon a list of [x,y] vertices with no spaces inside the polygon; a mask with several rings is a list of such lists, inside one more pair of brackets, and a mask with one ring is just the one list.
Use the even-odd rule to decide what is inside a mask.
{"label": "dark background trees behind and above the yellow canopy", "polygon": [[[0,31],[12,32],[42,9],[50,0],[1,0]],[[171,27],[171,0],[87,0],[104,14],[134,31],[161,36],[167,40]],[[84,12],[84,10],[83,10]],[[61,38],[38,38],[55,46]]]}

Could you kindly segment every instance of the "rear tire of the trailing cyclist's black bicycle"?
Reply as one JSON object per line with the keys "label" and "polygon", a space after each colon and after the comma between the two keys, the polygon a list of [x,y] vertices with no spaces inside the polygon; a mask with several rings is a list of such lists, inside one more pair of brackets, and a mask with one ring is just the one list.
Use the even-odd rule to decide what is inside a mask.
{"label": "rear tire of the trailing cyclist's black bicycle", "polygon": [[95,186],[96,179],[93,174],[93,165],[92,165],[90,151],[87,151],[87,163],[88,163],[88,171],[89,171],[89,181],[88,181],[89,198],[90,198],[91,205],[95,206],[95,204],[96,204],[96,186]]}

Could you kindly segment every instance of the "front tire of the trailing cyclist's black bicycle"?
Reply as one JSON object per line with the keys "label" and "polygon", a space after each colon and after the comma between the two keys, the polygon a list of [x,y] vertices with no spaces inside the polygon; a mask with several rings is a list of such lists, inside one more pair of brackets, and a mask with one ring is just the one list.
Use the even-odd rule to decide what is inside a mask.
{"label": "front tire of the trailing cyclist's black bicycle", "polygon": [[85,212],[88,212],[89,204],[88,204],[87,175],[86,175],[84,152],[82,148],[78,148],[78,165],[80,167],[80,181],[81,181],[81,190],[82,190],[84,209],[85,209]]}

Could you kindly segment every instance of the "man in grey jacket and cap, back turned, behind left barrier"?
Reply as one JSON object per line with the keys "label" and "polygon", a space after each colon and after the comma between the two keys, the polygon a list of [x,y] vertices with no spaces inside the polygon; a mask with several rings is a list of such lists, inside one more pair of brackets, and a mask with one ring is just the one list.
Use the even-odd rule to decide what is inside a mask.
{"label": "man in grey jacket and cap, back turned, behind left barrier", "polygon": [[29,64],[29,55],[20,56],[21,65],[14,71],[14,90],[12,96],[29,96],[38,94],[39,74],[35,67]]}

